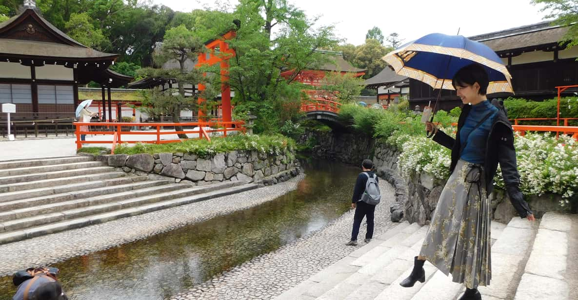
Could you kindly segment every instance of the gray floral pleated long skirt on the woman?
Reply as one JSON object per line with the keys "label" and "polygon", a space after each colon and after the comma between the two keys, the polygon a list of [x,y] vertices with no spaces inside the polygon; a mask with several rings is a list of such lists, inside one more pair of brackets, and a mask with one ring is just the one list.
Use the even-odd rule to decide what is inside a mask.
{"label": "gray floral pleated long skirt on the woman", "polygon": [[483,169],[458,160],[444,186],[420,256],[468,288],[491,279],[490,199]]}

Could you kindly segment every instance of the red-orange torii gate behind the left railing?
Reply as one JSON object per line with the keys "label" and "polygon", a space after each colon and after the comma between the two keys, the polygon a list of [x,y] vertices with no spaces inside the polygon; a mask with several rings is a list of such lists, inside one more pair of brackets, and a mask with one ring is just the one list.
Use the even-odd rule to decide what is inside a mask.
{"label": "red-orange torii gate behind the left railing", "polygon": [[[230,40],[237,35],[235,30],[228,31],[218,39],[205,43],[209,49],[208,55],[205,53],[199,54],[198,63],[195,67],[209,65],[216,63],[221,65],[221,109],[223,110],[223,122],[231,122],[231,87],[229,87],[229,59],[235,56],[235,50],[229,48],[229,44],[225,40]],[[215,53],[218,48],[218,53]],[[206,73],[203,73],[206,76]],[[204,84],[199,84],[199,91],[205,90]],[[201,106],[205,102],[204,98],[199,97],[198,104]],[[201,108],[198,111],[199,121],[205,116]]]}

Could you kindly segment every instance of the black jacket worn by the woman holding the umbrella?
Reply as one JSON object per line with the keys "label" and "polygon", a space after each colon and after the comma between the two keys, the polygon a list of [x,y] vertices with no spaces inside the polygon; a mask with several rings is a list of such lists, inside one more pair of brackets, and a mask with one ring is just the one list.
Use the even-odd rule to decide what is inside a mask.
{"label": "black jacket worn by the woman holding the umbrella", "polygon": [[[502,102],[492,101],[498,107],[498,114],[494,118],[488,140],[486,142],[486,159],[484,160],[484,170],[486,172],[486,191],[488,196],[494,190],[494,175],[498,168],[498,163],[502,168],[502,177],[506,184],[507,193],[510,196],[512,205],[516,208],[518,215],[524,218],[532,214],[528,203],[524,201],[524,196],[520,191],[520,174],[516,164],[516,149],[514,149],[514,132],[512,125],[508,121]],[[455,139],[448,136],[442,130],[433,136],[433,140],[440,145],[451,149],[450,173],[454,171],[455,165],[461,156],[460,130],[464,126],[466,117],[472,106],[465,105],[462,108],[460,119],[458,120],[458,132]]]}

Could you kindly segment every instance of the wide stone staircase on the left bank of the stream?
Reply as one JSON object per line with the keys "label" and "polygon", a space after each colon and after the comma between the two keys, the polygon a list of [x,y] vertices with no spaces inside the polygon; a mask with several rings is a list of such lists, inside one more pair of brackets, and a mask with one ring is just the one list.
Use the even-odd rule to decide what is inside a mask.
{"label": "wide stone staircase on the left bank of the stream", "polygon": [[257,188],[147,179],[86,156],[0,162],[0,244]]}

